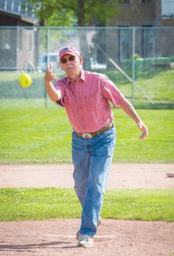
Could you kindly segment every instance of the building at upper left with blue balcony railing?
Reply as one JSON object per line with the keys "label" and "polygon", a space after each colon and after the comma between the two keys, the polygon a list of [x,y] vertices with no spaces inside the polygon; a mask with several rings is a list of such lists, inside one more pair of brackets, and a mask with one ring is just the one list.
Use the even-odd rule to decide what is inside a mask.
{"label": "building at upper left with blue balcony railing", "polygon": [[36,22],[30,1],[0,1],[0,69],[36,66],[36,32],[28,28]]}

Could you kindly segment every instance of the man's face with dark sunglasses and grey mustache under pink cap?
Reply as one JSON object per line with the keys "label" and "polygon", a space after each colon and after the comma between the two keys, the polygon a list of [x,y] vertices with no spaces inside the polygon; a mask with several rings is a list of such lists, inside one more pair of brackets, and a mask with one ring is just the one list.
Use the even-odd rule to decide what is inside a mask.
{"label": "man's face with dark sunglasses and grey mustache under pink cap", "polygon": [[78,55],[64,55],[59,61],[60,67],[65,71],[68,78],[76,81],[82,69],[82,58]]}

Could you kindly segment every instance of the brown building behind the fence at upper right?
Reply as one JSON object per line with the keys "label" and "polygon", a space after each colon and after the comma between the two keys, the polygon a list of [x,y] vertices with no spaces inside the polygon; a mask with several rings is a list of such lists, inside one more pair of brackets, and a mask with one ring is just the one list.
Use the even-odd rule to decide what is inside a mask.
{"label": "brown building behind the fence at upper right", "polygon": [[122,0],[116,8],[107,26],[118,30],[106,32],[107,53],[116,61],[132,57],[133,37],[140,57],[174,56],[174,0]]}

